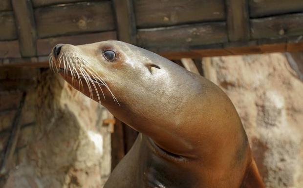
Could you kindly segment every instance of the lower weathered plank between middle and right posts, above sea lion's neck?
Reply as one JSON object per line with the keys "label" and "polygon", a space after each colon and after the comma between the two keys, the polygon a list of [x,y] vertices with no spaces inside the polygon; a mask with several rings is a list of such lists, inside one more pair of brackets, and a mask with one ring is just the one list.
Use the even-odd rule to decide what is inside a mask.
{"label": "lower weathered plank between middle and right posts, above sea lion's neck", "polygon": [[171,26],[137,31],[137,44],[153,51],[186,51],[190,46],[227,42],[224,22]]}

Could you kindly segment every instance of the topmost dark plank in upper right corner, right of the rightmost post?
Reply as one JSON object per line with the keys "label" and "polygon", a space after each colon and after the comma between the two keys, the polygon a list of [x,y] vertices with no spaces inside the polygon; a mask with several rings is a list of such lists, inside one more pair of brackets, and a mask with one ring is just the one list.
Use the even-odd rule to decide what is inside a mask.
{"label": "topmost dark plank in upper right corner, right of the rightmost post", "polygon": [[302,0],[249,0],[252,18],[303,12]]}

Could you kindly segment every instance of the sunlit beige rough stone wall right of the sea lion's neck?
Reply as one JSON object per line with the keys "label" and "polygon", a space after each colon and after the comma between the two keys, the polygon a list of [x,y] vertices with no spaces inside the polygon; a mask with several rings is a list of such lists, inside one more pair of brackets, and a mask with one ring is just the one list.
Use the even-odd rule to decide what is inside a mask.
{"label": "sunlit beige rough stone wall right of the sea lion's neck", "polygon": [[303,82],[283,54],[205,58],[235,104],[266,188],[303,188]]}

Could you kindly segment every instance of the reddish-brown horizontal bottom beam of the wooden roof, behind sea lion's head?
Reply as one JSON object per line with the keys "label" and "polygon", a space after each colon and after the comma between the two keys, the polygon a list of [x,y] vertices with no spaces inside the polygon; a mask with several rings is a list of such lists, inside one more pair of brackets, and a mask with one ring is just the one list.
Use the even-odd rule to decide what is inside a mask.
{"label": "reddish-brown horizontal bottom beam of the wooden roof, behind sea lion's head", "polygon": [[[71,37],[70,40],[72,41],[72,39],[73,38]],[[43,42],[41,43],[41,46],[43,46],[42,44]],[[48,51],[49,49],[50,47],[45,48],[45,52],[49,52]],[[152,48],[147,48],[147,49],[152,50]],[[188,48],[186,50],[182,48],[175,48],[171,50],[167,50],[166,48],[158,48],[157,51],[155,52],[170,60],[180,60],[181,58],[200,59],[202,57],[212,57],[212,56],[247,55],[247,54],[261,54],[261,53],[286,52],[286,51],[287,52],[303,51],[303,37],[299,36],[292,39],[291,41],[285,41],[285,42],[282,41],[280,42],[269,41],[265,43],[262,42],[259,43],[256,41],[247,42],[247,43],[236,42],[236,43],[229,43],[228,45],[199,46],[195,48]],[[1,52],[1,48],[0,48],[0,52]],[[4,58],[4,59],[0,59],[0,66],[47,67],[48,58],[47,56],[39,56],[34,58]]]}

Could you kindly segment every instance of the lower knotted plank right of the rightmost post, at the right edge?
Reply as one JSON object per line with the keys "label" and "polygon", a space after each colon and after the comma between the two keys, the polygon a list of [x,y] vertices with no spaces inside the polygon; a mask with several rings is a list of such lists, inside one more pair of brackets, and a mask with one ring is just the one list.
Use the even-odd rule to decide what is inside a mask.
{"label": "lower knotted plank right of the rightmost post, at the right edge", "polygon": [[250,24],[253,39],[277,39],[303,35],[302,13],[252,19]]}

